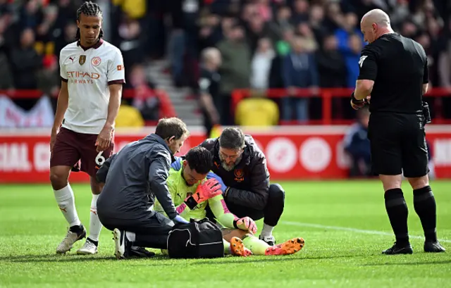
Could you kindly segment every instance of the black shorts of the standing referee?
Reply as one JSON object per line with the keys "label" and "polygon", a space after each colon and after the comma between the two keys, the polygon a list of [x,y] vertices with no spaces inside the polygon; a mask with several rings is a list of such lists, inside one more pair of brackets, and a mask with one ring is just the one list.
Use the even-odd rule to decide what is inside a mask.
{"label": "black shorts of the standing referee", "polygon": [[429,173],[422,121],[422,115],[371,113],[368,138],[373,173],[404,173],[404,177],[421,177]]}

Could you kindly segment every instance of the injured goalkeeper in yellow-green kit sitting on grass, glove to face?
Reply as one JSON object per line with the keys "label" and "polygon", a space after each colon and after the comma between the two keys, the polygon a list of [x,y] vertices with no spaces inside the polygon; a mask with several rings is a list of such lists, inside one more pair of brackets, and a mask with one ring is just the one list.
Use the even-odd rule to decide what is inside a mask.
{"label": "injured goalkeeper in yellow-green kit sitting on grass, glove to face", "polygon": [[[224,253],[235,256],[249,255],[289,255],[301,250],[304,239],[293,238],[282,244],[269,246],[263,240],[254,237],[257,225],[249,217],[237,218],[228,211],[217,180],[206,179],[213,158],[211,153],[201,146],[188,151],[185,160],[177,158],[182,169],[169,170],[168,189],[180,216],[186,220],[205,218],[207,206],[213,212],[217,224],[223,232]],[[159,202],[155,202],[155,211],[164,213]]]}

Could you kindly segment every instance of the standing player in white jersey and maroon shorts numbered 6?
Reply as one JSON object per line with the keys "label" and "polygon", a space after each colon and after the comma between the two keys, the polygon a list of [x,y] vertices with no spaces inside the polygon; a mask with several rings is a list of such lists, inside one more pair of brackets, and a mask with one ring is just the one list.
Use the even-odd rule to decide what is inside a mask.
{"label": "standing player in white jersey and maroon shorts numbered 6", "polygon": [[101,223],[97,198],[102,185],[96,180],[99,167],[113,153],[113,130],[125,83],[121,51],[101,39],[102,13],[87,1],[77,11],[77,41],[60,52],[61,90],[50,138],[50,181],[69,230],[56,253],[66,253],[86,237],[78,218],[70,171],[90,176],[92,201],[89,235],[79,254],[97,253]]}

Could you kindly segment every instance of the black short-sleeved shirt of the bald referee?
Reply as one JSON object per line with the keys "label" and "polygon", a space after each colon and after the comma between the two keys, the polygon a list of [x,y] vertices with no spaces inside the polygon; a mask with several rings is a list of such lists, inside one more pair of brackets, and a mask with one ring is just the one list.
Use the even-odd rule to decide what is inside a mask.
{"label": "black short-sleeved shirt of the bald referee", "polygon": [[374,81],[371,113],[421,113],[428,61],[419,43],[396,33],[382,35],[362,50],[359,66],[358,79]]}

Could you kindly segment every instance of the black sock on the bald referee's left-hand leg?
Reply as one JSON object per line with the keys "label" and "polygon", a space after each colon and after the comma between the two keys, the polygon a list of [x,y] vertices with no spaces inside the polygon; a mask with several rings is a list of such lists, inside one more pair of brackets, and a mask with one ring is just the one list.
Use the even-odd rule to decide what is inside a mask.
{"label": "black sock on the bald referee's left-hand leg", "polygon": [[390,224],[395,232],[396,243],[400,245],[409,243],[409,231],[407,230],[407,204],[400,188],[390,189],[385,192],[385,209],[387,210]]}

